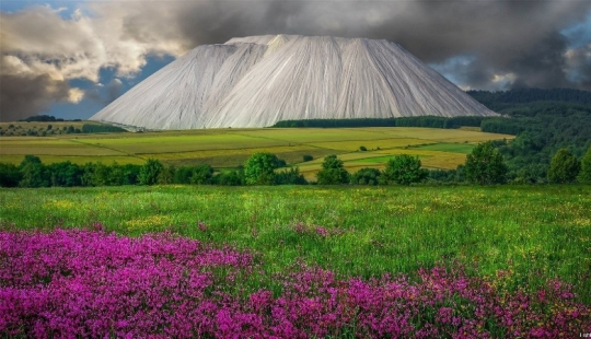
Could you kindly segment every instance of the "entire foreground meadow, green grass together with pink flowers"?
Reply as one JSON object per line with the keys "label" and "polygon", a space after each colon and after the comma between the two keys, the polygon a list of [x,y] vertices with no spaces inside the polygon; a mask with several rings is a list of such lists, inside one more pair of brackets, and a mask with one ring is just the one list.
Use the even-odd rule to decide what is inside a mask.
{"label": "entire foreground meadow, green grass together with pink flowers", "polygon": [[0,189],[0,287],[28,291],[3,290],[4,326],[40,307],[37,334],[559,337],[591,328],[590,204],[590,186]]}

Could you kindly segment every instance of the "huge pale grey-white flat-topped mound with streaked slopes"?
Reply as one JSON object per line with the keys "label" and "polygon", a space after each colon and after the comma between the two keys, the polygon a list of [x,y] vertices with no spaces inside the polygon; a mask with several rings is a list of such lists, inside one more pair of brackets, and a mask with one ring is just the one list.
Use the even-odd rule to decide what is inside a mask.
{"label": "huge pale grey-white flat-topped mound with streaked slopes", "polygon": [[91,120],[193,129],[426,115],[496,114],[387,40],[265,35],[199,46]]}

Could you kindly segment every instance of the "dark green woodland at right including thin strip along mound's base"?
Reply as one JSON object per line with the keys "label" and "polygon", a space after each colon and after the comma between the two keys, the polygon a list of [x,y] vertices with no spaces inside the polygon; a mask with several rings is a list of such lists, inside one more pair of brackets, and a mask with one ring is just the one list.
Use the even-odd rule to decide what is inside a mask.
{"label": "dark green woodland at right including thin strip along mound's base", "polygon": [[591,92],[520,89],[467,94],[503,117],[288,120],[276,127],[480,127],[485,132],[517,136],[511,142],[495,145],[509,167],[509,178],[519,183],[544,183],[552,157],[560,149],[580,159],[591,148]]}

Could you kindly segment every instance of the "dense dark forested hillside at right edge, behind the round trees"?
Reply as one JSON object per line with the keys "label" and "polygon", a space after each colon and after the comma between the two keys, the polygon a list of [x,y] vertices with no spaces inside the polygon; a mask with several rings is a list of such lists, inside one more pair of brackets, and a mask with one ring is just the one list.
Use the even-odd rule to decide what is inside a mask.
{"label": "dense dark forested hillside at right edge, behind the round trees", "polygon": [[552,156],[559,149],[568,148],[581,156],[591,147],[591,92],[522,89],[468,94],[510,117],[485,119],[480,129],[517,135],[515,140],[499,148],[514,183],[544,182]]}

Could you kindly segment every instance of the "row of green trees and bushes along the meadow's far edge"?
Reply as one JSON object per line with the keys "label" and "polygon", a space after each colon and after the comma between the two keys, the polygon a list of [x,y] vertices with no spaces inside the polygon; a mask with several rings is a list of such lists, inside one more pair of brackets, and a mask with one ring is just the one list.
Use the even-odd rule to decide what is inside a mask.
{"label": "row of green trees and bushes along the meadow's far edge", "polygon": [[[310,156],[305,156],[310,160]],[[579,160],[567,149],[559,150],[552,160],[547,182],[591,184],[591,148]],[[418,156],[401,154],[392,156],[383,171],[361,168],[350,174],[336,155],[324,157],[316,174],[318,185],[410,185],[415,183],[470,183],[495,185],[523,184],[511,179],[499,149],[494,142],[478,144],[466,162],[455,170],[428,171],[421,167]],[[26,155],[20,165],[0,163],[1,187],[76,187],[121,185],[306,185],[309,183],[297,166],[286,167],[286,162],[271,153],[255,153],[244,166],[216,172],[207,164],[174,166],[158,160],[148,160],[143,165],[113,163],[86,163],[78,165],[67,162],[43,164],[35,155]]]}

